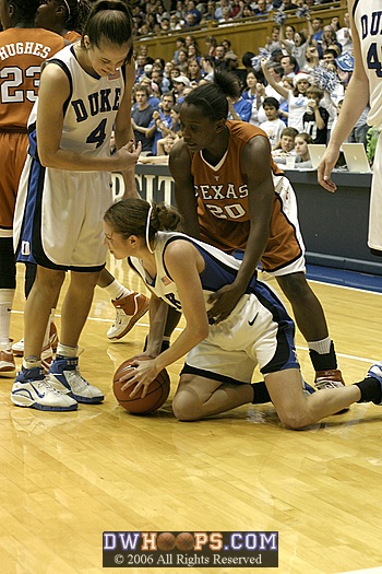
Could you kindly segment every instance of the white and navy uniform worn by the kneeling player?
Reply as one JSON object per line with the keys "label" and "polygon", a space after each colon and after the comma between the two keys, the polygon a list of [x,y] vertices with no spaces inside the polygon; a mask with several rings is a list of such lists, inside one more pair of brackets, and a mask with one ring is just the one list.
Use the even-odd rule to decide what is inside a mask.
{"label": "white and navy uniform worn by the kneeling player", "polygon": [[[129,265],[155,295],[181,311],[177,285],[164,261],[167,246],[179,239],[192,243],[204,259],[205,268],[200,279],[208,309],[210,295],[235,280],[240,267],[235,257],[181,233],[158,232],[154,249],[156,276],[147,276],[135,257],[128,258]],[[294,332],[294,323],[275,292],[254,274],[228,318],[212,324],[207,338],[188,353],[182,372],[226,383],[249,383],[256,364],[263,374],[299,368]]]}

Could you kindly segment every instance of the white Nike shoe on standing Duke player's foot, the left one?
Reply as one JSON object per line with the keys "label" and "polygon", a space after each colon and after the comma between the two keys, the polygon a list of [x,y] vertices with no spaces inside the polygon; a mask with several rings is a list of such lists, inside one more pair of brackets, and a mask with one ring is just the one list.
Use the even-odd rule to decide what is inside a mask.
{"label": "white Nike shoe on standing Duke player's foot, the left one", "polygon": [[24,368],[17,374],[11,391],[11,400],[17,407],[31,407],[41,411],[74,411],[77,402],[64,393],[51,387],[43,367]]}

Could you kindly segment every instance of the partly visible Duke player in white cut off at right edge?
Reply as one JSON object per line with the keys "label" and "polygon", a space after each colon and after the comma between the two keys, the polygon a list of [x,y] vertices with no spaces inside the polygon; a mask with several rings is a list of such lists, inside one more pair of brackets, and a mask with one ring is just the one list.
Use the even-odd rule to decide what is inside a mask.
{"label": "partly visible Duke player in white cut off at right edge", "polygon": [[[350,133],[365,107],[370,104],[368,124],[382,127],[382,17],[378,2],[348,0],[355,68],[345,99],[331,134],[327,150],[319,165],[319,183],[335,191],[331,173],[339,155],[339,148]],[[382,132],[381,132],[382,133]],[[370,195],[368,244],[374,255],[382,255],[382,136],[373,163]]]}

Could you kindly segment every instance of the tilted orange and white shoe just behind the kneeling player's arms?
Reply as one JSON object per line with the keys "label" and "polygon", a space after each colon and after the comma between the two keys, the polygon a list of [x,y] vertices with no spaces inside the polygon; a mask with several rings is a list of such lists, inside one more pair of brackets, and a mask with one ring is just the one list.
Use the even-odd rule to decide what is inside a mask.
{"label": "tilted orange and white shoe just behind the kneeling player's arms", "polygon": [[141,293],[130,293],[118,301],[111,300],[116,307],[116,319],[107,331],[107,338],[118,340],[124,337],[148,311],[150,298]]}

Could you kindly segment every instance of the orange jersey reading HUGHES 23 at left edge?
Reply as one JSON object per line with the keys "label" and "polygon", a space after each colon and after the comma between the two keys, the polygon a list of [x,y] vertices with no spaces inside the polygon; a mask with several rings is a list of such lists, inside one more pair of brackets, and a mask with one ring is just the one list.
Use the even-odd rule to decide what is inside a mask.
{"label": "orange jersey reading HUGHES 23 at left edge", "polygon": [[8,28],[0,33],[0,131],[26,132],[37,99],[41,63],[64,46],[44,28]]}

